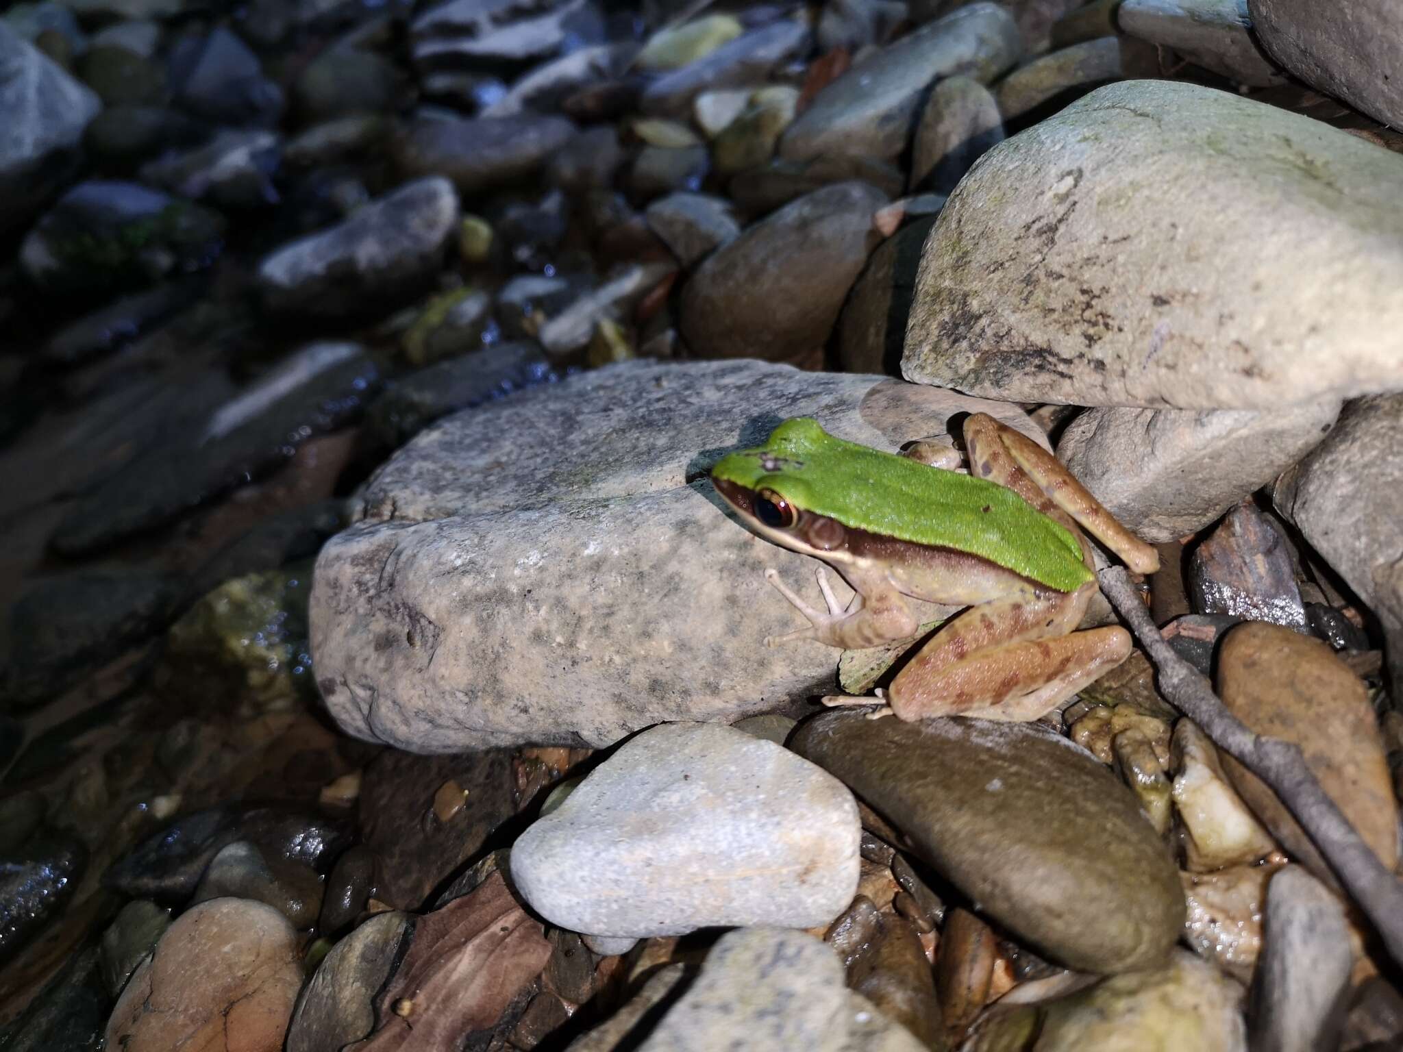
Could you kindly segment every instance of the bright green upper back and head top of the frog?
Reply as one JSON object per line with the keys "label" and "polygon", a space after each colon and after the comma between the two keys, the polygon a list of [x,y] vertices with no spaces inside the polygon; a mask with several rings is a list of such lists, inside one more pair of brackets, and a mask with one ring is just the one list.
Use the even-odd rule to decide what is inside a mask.
{"label": "bright green upper back and head top of the frog", "polygon": [[773,490],[845,526],[979,555],[1062,592],[1092,579],[1076,537],[1012,490],[845,442],[807,417],[780,424],[759,449],[727,454],[711,474]]}

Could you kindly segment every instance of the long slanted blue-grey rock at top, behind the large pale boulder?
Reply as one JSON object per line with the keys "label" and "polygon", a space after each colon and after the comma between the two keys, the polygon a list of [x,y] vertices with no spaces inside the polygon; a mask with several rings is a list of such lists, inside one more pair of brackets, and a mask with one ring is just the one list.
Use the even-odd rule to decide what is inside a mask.
{"label": "long slanted blue-grey rock at top, behind the large pale boulder", "polygon": [[926,90],[939,77],[988,83],[1019,58],[1019,31],[998,4],[976,3],[922,25],[819,91],[780,139],[780,157],[905,151]]}

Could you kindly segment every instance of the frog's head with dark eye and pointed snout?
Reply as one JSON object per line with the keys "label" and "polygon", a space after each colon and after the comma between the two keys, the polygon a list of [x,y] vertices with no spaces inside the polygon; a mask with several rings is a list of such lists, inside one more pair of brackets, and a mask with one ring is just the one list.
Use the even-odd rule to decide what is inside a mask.
{"label": "frog's head with dark eye and pointed snout", "polygon": [[765,540],[807,555],[833,551],[846,543],[847,530],[812,508],[822,485],[822,452],[835,440],[815,419],[787,419],[763,446],[721,457],[711,483]]}

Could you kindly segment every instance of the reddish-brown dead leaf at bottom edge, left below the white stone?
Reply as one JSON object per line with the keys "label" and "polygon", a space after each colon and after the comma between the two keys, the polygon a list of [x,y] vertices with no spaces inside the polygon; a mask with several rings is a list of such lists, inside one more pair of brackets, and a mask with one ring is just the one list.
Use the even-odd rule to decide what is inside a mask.
{"label": "reddish-brown dead leaf at bottom edge, left below the white stone", "polygon": [[421,917],[410,952],[376,1003],[380,1028],[355,1052],[457,1052],[497,1024],[546,966],[550,943],[499,871]]}

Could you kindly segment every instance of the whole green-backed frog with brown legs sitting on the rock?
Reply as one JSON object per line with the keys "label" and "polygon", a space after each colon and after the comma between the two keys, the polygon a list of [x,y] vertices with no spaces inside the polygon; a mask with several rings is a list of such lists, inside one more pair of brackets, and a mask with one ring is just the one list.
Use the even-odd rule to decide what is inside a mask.
{"label": "whole green-backed frog with brown legs sitting on the rock", "polygon": [[[1129,633],[1079,630],[1099,591],[1090,533],[1136,574],[1159,553],[1106,509],[1049,452],[986,412],[953,446],[888,453],[836,438],[811,417],[786,419],[763,446],[721,457],[717,494],[759,537],[819,560],[811,606],[773,568],[769,581],[808,626],[765,640],[843,649],[916,634],[908,599],[962,607],[874,696],[871,718],[1037,720],[1124,662]],[[1083,530],[1086,533],[1083,533]],[[843,607],[825,564],[853,589]]]}

